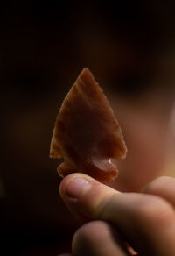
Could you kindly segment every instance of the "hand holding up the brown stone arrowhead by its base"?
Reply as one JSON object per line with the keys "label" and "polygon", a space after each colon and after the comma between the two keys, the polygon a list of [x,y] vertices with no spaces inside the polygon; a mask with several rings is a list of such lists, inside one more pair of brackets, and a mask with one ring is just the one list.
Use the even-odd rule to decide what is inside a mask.
{"label": "hand holding up the brown stone arrowhead by its base", "polygon": [[74,234],[73,255],[175,255],[174,178],[160,177],[143,193],[121,193],[88,175],[70,174],[60,195],[74,214],[93,220]]}

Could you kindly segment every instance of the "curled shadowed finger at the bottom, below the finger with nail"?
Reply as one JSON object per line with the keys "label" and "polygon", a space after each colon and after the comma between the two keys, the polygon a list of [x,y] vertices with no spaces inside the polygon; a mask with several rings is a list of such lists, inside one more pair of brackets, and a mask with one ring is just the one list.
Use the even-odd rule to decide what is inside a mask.
{"label": "curled shadowed finger at the bottom, below the finger with nail", "polygon": [[110,224],[93,221],[76,231],[73,237],[73,255],[127,256],[131,254]]}

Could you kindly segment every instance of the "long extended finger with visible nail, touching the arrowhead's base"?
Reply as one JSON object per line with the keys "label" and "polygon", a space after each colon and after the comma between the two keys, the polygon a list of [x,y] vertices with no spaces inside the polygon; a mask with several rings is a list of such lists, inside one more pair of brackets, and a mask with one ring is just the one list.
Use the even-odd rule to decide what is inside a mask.
{"label": "long extended finger with visible nail, touching the arrowhead's base", "polygon": [[140,254],[175,255],[175,212],[159,196],[119,193],[85,174],[70,174],[60,195],[75,212],[115,224]]}

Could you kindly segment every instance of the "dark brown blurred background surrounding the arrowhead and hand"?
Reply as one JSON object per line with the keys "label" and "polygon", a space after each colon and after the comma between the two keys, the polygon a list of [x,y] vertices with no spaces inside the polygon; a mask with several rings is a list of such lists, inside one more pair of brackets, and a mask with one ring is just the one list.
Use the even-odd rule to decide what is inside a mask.
{"label": "dark brown blurred background surrounding the arrowhead and hand", "polygon": [[78,223],[59,198],[59,160],[48,155],[59,106],[84,67],[109,97],[128,145],[110,185],[140,191],[168,174],[174,11],[171,0],[1,3],[2,255],[70,252]]}

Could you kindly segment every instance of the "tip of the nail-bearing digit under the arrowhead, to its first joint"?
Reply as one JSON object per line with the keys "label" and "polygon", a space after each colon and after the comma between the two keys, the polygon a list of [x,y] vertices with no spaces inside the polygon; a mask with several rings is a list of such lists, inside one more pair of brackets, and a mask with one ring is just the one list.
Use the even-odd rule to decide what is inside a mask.
{"label": "tip of the nail-bearing digit under the arrowhead, to its first joint", "polygon": [[66,206],[78,217],[96,219],[108,198],[120,192],[86,174],[69,174],[60,183],[59,193]]}

